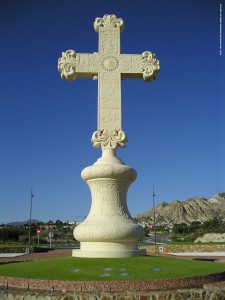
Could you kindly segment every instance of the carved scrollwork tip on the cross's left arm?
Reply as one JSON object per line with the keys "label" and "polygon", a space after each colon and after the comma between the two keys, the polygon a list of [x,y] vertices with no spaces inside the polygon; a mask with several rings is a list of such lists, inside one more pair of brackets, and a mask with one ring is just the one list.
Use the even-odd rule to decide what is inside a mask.
{"label": "carved scrollwork tip on the cross's left arm", "polygon": [[76,79],[76,52],[67,50],[62,53],[62,57],[58,60],[58,71],[61,73],[61,78],[68,81]]}

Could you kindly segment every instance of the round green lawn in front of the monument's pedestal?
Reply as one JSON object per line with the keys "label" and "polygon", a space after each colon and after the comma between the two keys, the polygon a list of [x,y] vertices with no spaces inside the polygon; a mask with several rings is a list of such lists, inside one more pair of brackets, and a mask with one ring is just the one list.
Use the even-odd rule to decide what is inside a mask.
{"label": "round green lawn in front of the monument's pedestal", "polygon": [[[4,276],[74,281],[148,280],[222,271],[225,271],[224,264],[153,256],[113,259],[66,257],[0,265],[0,275]],[[103,274],[110,275],[103,277]]]}

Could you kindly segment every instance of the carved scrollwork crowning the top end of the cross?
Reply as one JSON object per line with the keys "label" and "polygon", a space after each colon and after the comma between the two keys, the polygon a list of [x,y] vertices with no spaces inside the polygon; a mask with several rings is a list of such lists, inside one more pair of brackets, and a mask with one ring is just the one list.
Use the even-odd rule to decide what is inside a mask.
{"label": "carved scrollwork crowning the top end of the cross", "polygon": [[117,18],[115,15],[104,15],[103,18],[96,18],[94,21],[94,29],[99,32],[99,27],[115,28],[120,27],[120,32],[124,29],[123,19]]}

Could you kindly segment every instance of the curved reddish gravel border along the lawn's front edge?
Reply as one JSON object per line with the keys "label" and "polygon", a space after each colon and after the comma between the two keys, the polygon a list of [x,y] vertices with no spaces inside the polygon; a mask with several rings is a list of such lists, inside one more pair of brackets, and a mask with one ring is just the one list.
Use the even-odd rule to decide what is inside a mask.
{"label": "curved reddish gravel border along the lawn's front edge", "polygon": [[122,292],[164,291],[203,288],[203,285],[225,280],[225,272],[172,279],[124,281],[60,281],[0,276],[1,290],[63,291],[63,292]]}

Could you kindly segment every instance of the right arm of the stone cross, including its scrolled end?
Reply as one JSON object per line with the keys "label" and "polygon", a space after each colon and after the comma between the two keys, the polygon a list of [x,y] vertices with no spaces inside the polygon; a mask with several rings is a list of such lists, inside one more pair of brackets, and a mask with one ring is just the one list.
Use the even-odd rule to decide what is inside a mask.
{"label": "right arm of the stone cross, including its scrolled end", "polygon": [[143,78],[150,82],[156,79],[159,70],[159,61],[150,51],[120,55],[120,72],[123,78]]}

